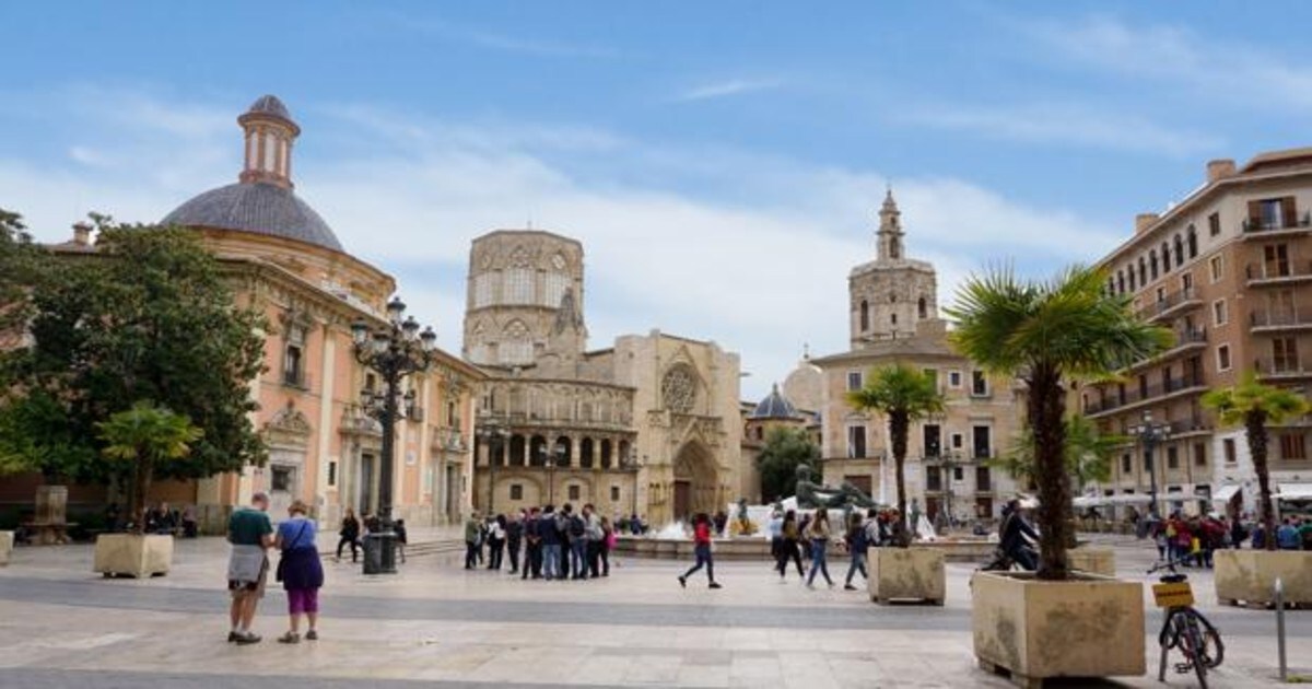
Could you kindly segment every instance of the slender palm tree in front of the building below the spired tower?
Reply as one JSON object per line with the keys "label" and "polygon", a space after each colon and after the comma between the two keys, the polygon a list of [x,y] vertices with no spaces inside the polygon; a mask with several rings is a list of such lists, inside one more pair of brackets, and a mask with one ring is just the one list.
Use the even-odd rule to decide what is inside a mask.
{"label": "slender palm tree in front of the building below the spired tower", "polygon": [[[893,476],[897,486],[897,514],[907,514],[907,436],[911,423],[925,415],[943,411],[938,382],[905,364],[871,369],[861,390],[848,392],[848,404],[858,411],[874,411],[888,417],[888,441],[893,453]],[[914,529],[916,525],[912,525]],[[907,546],[908,543],[900,543]]]}

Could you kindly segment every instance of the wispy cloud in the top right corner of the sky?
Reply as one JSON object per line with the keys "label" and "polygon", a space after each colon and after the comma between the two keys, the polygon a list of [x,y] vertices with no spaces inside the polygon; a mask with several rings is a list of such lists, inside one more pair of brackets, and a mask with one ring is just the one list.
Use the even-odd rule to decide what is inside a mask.
{"label": "wispy cloud in the top right corner of the sky", "polygon": [[1312,108],[1312,68],[1258,43],[1227,42],[1177,26],[1128,25],[1106,16],[1078,24],[1033,21],[1019,28],[1055,54],[1186,87],[1208,96],[1211,106]]}

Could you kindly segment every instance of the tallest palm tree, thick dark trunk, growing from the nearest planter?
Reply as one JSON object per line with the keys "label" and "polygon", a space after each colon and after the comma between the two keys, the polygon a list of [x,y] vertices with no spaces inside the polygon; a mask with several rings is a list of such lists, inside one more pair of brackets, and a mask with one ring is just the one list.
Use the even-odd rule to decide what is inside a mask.
{"label": "tallest palm tree, thick dark trunk, growing from the nearest planter", "polygon": [[963,356],[1027,386],[1026,417],[1034,433],[1039,488],[1039,571],[1067,579],[1071,476],[1063,377],[1102,378],[1148,358],[1172,341],[1170,331],[1140,320],[1128,295],[1103,291],[1103,272],[1071,266],[1048,282],[1022,281],[1010,268],[972,276],[947,315],[949,335]]}

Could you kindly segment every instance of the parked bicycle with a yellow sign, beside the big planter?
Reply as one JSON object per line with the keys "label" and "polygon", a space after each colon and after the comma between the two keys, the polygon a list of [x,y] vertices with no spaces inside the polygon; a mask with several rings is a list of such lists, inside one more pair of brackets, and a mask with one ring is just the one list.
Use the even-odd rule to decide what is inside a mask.
{"label": "parked bicycle with a yellow sign, beside the big planter", "polygon": [[1148,570],[1148,574],[1170,570],[1170,574],[1161,575],[1160,584],[1152,587],[1157,608],[1165,609],[1161,633],[1157,635],[1157,643],[1161,646],[1157,681],[1166,681],[1166,656],[1172,648],[1179,648],[1185,661],[1176,664],[1176,672],[1187,675],[1193,671],[1198,675],[1198,685],[1207,689],[1207,671],[1220,667],[1225,656],[1225,644],[1221,643],[1216,627],[1194,609],[1194,589],[1189,585],[1189,576],[1176,571],[1176,564],[1185,558],[1158,563]]}

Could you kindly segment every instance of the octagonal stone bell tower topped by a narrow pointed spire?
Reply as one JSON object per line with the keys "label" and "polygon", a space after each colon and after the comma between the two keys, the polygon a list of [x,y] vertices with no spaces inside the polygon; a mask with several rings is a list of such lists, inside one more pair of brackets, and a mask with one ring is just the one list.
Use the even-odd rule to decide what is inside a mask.
{"label": "octagonal stone bell tower topped by a narrow pointed spire", "polygon": [[879,209],[875,260],[848,276],[851,346],[905,337],[924,320],[938,318],[934,266],[907,257],[901,211],[892,189]]}

